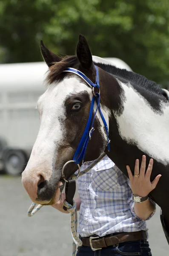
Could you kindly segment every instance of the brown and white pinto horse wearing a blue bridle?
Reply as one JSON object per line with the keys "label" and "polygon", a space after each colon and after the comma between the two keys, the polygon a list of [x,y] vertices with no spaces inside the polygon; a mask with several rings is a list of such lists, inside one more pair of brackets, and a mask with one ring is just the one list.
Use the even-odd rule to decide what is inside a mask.
{"label": "brown and white pinto horse wearing a blue bridle", "polygon": [[[42,205],[59,201],[64,187],[62,168],[74,158],[90,115],[95,117],[89,129],[92,136],[88,133],[90,139],[78,163],[93,161],[106,153],[128,177],[126,165],[134,172],[136,158],[141,162],[145,154],[146,166],[153,158],[151,181],[158,174],[162,176],[149,197],[162,209],[161,221],[169,243],[169,98],[166,91],[140,74],[94,62],[83,35],[79,36],[74,56],[61,58],[42,41],[40,48],[49,71],[46,92],[37,102],[39,133],[22,173],[29,197]],[[91,88],[90,84],[95,87]],[[91,115],[94,96],[100,101],[94,101]],[[81,151],[82,148],[78,155]],[[66,180],[77,170],[76,163],[70,161],[65,166]]]}

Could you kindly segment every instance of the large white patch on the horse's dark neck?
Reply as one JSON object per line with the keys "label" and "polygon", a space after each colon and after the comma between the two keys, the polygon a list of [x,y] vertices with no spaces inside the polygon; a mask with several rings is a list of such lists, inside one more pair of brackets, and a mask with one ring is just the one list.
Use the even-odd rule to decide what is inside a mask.
{"label": "large white patch on the horse's dark neck", "polygon": [[135,141],[137,148],[158,162],[169,164],[169,104],[161,102],[163,114],[157,113],[131,86],[119,84],[126,98],[123,113],[114,113],[120,136],[127,143]]}

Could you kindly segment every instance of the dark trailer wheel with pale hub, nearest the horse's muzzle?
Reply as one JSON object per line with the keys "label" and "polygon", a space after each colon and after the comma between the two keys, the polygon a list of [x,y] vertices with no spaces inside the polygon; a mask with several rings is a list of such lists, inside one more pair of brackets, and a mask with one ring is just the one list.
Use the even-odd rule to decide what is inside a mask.
{"label": "dark trailer wheel with pale hub, nearest the horse's muzzle", "polygon": [[3,156],[5,172],[12,176],[21,175],[26,167],[27,157],[24,151],[9,149]]}

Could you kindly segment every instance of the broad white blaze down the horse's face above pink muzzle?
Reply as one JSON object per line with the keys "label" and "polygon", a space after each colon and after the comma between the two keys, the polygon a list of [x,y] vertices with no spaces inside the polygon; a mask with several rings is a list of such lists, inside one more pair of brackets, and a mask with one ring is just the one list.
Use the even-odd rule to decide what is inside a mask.
{"label": "broad white blaze down the horse's face above pink muzzle", "polygon": [[65,128],[60,122],[60,118],[62,118],[62,122],[66,119],[65,99],[71,93],[83,91],[87,91],[90,98],[92,97],[92,90],[86,84],[80,83],[76,77],[71,77],[57,84],[51,84],[37,102],[40,113],[40,130],[27,166],[29,169],[32,168],[31,166],[40,168],[47,163],[46,172],[49,172],[47,180],[52,175],[52,162],[54,155],[57,157],[58,145],[64,140]]}

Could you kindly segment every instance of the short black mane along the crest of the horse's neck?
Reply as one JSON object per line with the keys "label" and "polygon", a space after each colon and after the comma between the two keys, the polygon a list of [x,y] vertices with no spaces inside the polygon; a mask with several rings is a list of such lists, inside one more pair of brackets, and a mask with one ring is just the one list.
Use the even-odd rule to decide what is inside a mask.
{"label": "short black mane along the crest of the horse's neck", "polygon": [[166,96],[166,92],[161,89],[160,84],[156,84],[154,81],[150,81],[145,76],[139,75],[137,73],[125,69],[120,69],[118,67],[112,66],[111,64],[95,63],[95,65],[105,70],[106,72],[112,74],[113,76],[115,76],[115,78],[119,79],[124,83],[129,82],[133,86],[137,84],[137,86],[144,87],[146,90],[149,90],[150,92]]}

